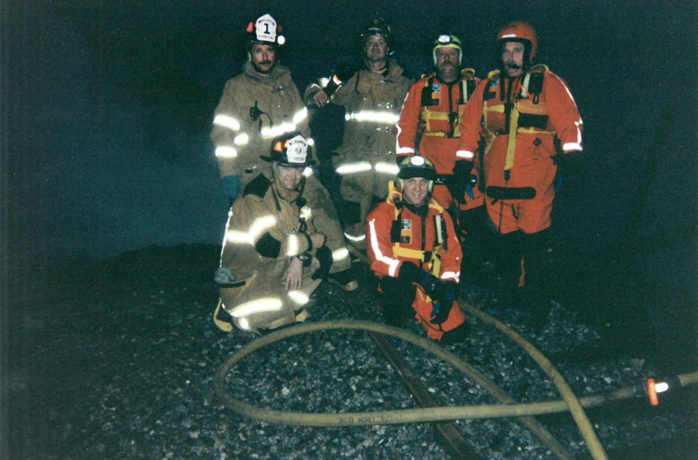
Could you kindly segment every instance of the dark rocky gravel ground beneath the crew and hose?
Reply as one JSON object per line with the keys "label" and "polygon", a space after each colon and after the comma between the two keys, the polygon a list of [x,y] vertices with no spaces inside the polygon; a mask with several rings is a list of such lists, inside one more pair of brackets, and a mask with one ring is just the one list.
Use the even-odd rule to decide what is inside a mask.
{"label": "dark rocky gravel ground beneath the crew and hose", "polygon": [[[151,246],[96,263],[74,261],[50,279],[10,285],[3,369],[8,459],[448,458],[428,424],[306,428],[249,420],[223,407],[214,373],[253,337],[225,334],[211,321],[218,251]],[[543,332],[523,327],[523,313],[501,318],[550,357],[578,396],[697,369],[692,288],[683,292],[670,284],[668,292],[641,272],[632,274],[637,282],[621,286],[608,269],[606,275],[597,270],[607,260],[584,262],[574,265],[577,285],[558,286],[564,306],[555,307]],[[310,320],[355,318],[357,305],[375,315],[368,281],[364,267],[355,292],[320,285]],[[673,302],[671,312],[658,313],[655,301],[662,296]],[[486,309],[496,296],[470,289],[463,297]],[[450,347],[453,353],[519,401],[558,399],[521,349],[469,320],[472,332]],[[422,334],[416,324],[406,327]],[[494,403],[423,350],[403,343],[399,351],[443,406]],[[318,332],[274,343],[244,359],[228,384],[232,396],[279,410],[414,406],[364,332]],[[693,459],[697,401],[698,392],[688,387],[665,395],[656,408],[639,398],[588,410],[588,416],[611,459]],[[538,418],[575,458],[590,458],[568,413]],[[554,458],[516,421],[456,425],[483,459]]]}

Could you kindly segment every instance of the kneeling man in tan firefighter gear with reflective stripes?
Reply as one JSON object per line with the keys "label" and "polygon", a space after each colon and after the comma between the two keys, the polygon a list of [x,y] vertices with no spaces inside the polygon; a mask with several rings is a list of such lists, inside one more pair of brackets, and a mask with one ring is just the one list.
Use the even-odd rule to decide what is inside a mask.
{"label": "kneeling man in tan firefighter gear with reflective stripes", "polygon": [[302,197],[303,170],[315,163],[308,143],[298,132],[284,134],[260,158],[272,168],[232,205],[216,275],[221,302],[214,320],[228,332],[232,325],[259,332],[305,320],[305,304],[332,267],[325,234]]}

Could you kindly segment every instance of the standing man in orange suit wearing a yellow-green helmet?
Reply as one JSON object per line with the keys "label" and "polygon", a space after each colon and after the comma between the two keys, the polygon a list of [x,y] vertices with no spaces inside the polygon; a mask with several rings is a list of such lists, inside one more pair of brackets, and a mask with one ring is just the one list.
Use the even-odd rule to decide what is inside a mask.
{"label": "standing man in orange suit wearing a yellow-green helmet", "polygon": [[461,69],[462,57],[458,37],[442,34],[434,40],[436,72],[422,75],[410,88],[397,124],[396,152],[399,161],[414,155],[419,142],[419,155],[434,163],[439,179],[433,198],[456,219],[462,232],[463,276],[473,276],[484,262],[491,232],[484,194],[475,186],[479,158],[470,163],[456,156],[463,110],[480,82],[473,69]]}

